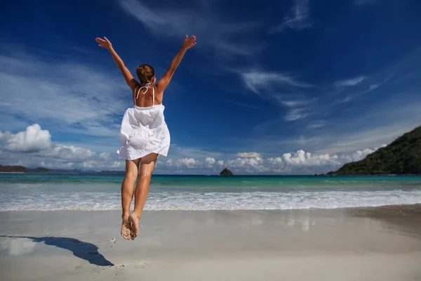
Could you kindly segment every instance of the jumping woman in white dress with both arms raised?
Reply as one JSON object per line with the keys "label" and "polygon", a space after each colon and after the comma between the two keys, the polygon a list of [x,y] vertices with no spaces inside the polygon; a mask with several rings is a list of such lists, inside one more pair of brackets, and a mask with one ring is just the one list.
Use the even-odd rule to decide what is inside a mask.
{"label": "jumping woman in white dress with both arms raised", "polygon": [[[187,49],[196,45],[196,37],[186,35],[180,51],[171,62],[163,77],[156,82],[154,69],[150,65],[140,65],[136,69],[139,82],[117,55],[111,42],[97,38],[99,46],[111,53],[114,62],[121,70],[126,83],[132,91],[134,107],[128,108],[121,122],[121,148],[119,157],[126,159],[126,174],[121,184],[121,236],[134,240],[139,233],[140,217],[145,205],[149,183],[158,155],[166,156],[170,146],[170,133],[163,117],[163,91],[173,77]],[[135,182],[139,181],[135,188]],[[135,189],[134,189],[135,188]],[[130,214],[131,201],[135,195],[135,209]]]}

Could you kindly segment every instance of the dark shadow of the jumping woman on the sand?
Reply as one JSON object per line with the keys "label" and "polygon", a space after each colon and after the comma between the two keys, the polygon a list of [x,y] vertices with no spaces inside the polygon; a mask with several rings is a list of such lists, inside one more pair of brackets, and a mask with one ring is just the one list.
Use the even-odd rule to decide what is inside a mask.
{"label": "dark shadow of the jumping woman on the sand", "polygon": [[10,236],[0,235],[6,238],[24,238],[31,239],[33,242],[44,242],[47,245],[55,246],[62,249],[72,251],[74,256],[79,259],[84,259],[96,266],[114,266],[113,263],[105,259],[102,254],[98,252],[98,247],[94,244],[83,242],[69,237],[30,237],[30,236]]}

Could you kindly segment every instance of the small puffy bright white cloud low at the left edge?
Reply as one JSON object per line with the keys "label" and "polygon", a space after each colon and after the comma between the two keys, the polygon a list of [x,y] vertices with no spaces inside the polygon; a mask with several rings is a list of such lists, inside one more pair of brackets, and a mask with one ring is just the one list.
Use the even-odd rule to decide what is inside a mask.
{"label": "small puffy bright white cloud low at the left edge", "polygon": [[39,124],[27,126],[25,131],[13,135],[0,132],[0,139],[6,141],[6,148],[15,152],[38,152],[51,145],[51,135],[48,130],[42,130]]}

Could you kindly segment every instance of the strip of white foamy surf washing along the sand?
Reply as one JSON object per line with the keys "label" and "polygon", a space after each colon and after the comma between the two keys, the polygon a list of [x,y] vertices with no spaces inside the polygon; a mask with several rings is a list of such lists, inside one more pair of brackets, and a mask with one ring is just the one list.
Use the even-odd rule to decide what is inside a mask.
{"label": "strip of white foamy surf washing along the sand", "polygon": [[[260,210],[376,207],[421,202],[421,190],[314,192],[149,192],[146,210]],[[0,211],[119,210],[117,192],[0,196]]]}

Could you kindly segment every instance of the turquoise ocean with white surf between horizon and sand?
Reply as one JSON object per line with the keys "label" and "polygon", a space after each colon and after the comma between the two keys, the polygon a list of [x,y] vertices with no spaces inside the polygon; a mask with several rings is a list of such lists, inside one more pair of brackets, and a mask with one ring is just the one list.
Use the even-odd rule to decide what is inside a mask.
{"label": "turquoise ocean with white surf between horizon and sand", "polygon": [[[121,175],[0,174],[0,211],[121,209]],[[152,176],[146,210],[421,203],[421,176]]]}

